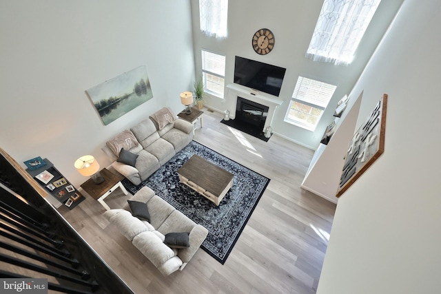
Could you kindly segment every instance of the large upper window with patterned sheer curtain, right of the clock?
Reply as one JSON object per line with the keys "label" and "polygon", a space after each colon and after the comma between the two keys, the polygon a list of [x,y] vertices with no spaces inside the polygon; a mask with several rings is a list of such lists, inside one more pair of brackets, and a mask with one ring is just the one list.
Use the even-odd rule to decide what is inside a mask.
{"label": "large upper window with patterned sheer curtain, right of the clock", "polygon": [[308,59],[347,65],[381,0],[325,0],[318,17]]}

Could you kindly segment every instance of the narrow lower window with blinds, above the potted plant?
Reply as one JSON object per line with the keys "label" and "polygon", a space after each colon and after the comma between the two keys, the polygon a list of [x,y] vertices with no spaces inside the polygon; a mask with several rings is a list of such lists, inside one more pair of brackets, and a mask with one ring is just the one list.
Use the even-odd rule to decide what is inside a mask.
{"label": "narrow lower window with blinds, above the potted plant", "polygon": [[205,92],[223,98],[225,56],[202,50],[202,78]]}

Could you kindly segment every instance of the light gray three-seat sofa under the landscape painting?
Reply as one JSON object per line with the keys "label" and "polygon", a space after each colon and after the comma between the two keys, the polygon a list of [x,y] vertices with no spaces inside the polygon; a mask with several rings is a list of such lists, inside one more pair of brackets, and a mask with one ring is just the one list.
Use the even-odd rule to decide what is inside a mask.
{"label": "light gray three-seat sofa under the landscape painting", "polygon": [[190,143],[193,127],[164,107],[108,140],[102,149],[113,160],[116,171],[139,185]]}

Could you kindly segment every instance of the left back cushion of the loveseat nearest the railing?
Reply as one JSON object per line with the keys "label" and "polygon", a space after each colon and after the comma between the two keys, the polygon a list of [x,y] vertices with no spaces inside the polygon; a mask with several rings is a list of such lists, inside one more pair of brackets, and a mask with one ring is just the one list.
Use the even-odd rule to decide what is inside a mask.
{"label": "left back cushion of the loveseat nearest the railing", "polygon": [[105,211],[105,218],[112,224],[118,227],[121,234],[128,240],[132,241],[133,238],[139,233],[147,231],[147,227],[139,220],[134,218],[130,211],[124,209],[110,209]]}

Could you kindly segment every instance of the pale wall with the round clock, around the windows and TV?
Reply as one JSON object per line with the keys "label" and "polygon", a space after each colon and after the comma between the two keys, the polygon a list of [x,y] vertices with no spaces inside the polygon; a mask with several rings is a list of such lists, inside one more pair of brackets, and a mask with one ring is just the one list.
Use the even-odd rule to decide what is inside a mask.
{"label": "pale wall with the round clock, around the windows and TV", "polygon": [[[279,96],[283,104],[278,107],[271,127],[280,136],[316,149],[327,125],[334,119],[332,114],[338,101],[348,94],[356,83],[402,1],[382,1],[365,38],[360,43],[356,60],[349,66],[336,66],[305,58],[323,1],[271,1],[271,3],[264,0],[229,1],[228,37],[223,41],[216,41],[201,34],[198,22],[198,0],[191,0],[192,14],[195,19],[193,34],[196,72],[201,72],[201,48],[225,54],[226,84],[233,82],[234,56],[236,55],[287,68]],[[260,28],[269,28],[274,32],[276,39],[274,50],[265,56],[256,54],[252,49],[252,36]],[[299,75],[338,85],[316,132],[310,132],[283,121]],[[228,108],[231,111],[231,108],[236,108],[231,100],[208,97],[205,104],[221,112]]]}

